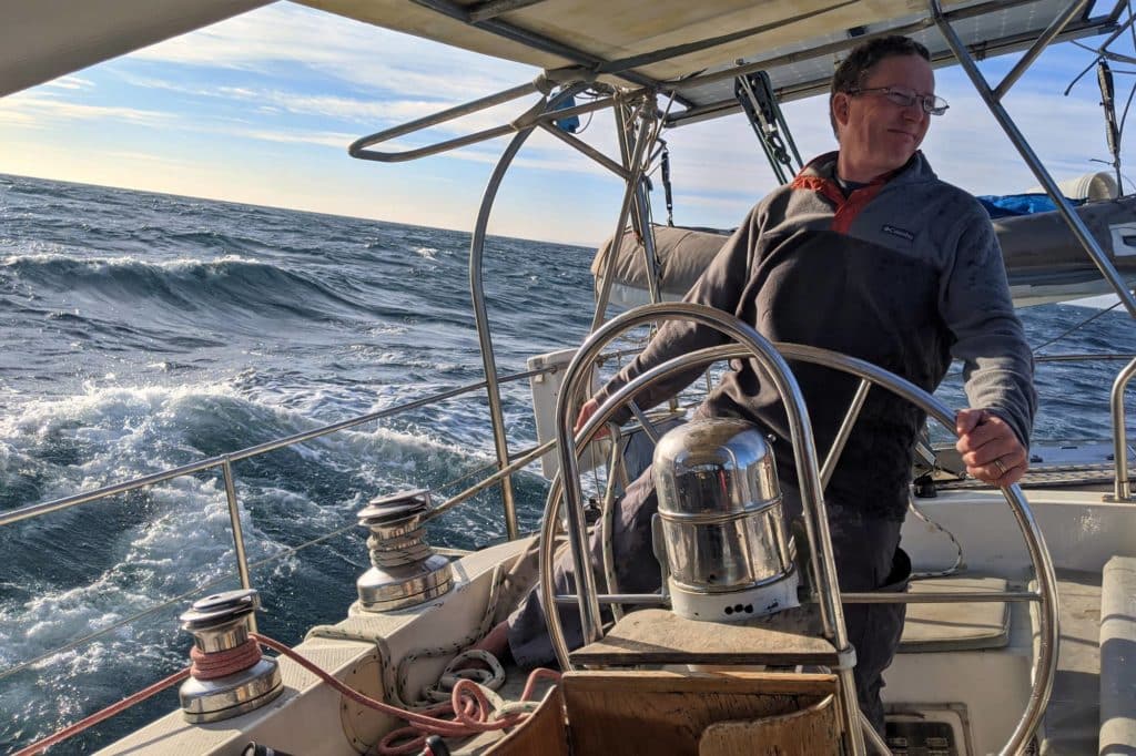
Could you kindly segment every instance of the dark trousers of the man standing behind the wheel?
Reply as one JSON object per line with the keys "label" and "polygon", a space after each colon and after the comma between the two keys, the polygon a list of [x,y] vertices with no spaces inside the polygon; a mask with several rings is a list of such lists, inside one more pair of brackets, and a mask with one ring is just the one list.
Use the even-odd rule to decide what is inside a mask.
{"label": "dark trousers of the man standing behind the wheel", "polygon": [[[795,492],[786,489],[785,510],[790,516],[800,513]],[[864,518],[858,510],[837,502],[826,502],[832,532],[836,571],[844,591],[907,590],[911,563],[900,549],[902,522]],[[651,518],[659,510],[654,481],[648,470],[632,484],[618,505],[612,530],[615,571],[619,593],[637,594],[659,590],[659,563],[651,549]],[[602,576],[603,556],[599,528],[592,536],[592,563]],[[575,593],[571,557],[558,555],[553,568],[556,593]],[[598,585],[603,586],[602,577]],[[560,624],[569,648],[583,645],[579,612],[575,606],[558,606]],[[854,670],[860,707],[876,729],[883,732],[884,708],[879,690],[883,672],[892,663],[903,630],[904,604],[847,604],[844,623],[849,640],[857,652]],[[509,647],[523,667],[556,663],[552,644],[545,629],[544,607],[540,591],[534,589],[509,618]]]}

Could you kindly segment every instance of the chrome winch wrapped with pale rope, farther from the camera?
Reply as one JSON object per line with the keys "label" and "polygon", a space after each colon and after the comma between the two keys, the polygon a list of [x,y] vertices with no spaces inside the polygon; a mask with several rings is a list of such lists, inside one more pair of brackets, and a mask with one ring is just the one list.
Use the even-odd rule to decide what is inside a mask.
{"label": "chrome winch wrapped with pale rope, farther from the camera", "polygon": [[359,524],[370,529],[367,547],[374,565],[356,581],[364,611],[416,606],[450,590],[450,560],[425,539],[428,510],[429,492],[419,489],[373,498],[359,511]]}

